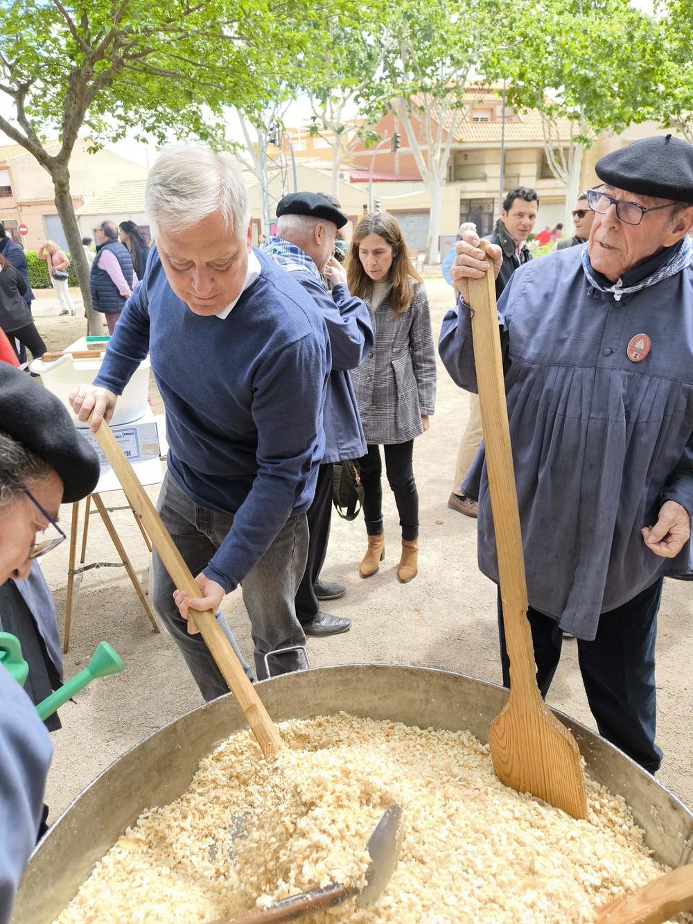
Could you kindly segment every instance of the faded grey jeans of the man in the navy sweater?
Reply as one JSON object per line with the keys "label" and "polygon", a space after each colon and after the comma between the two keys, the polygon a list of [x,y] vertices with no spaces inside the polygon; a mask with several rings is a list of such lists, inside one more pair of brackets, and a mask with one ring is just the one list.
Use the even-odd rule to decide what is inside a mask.
{"label": "faded grey jeans of the man in the navy sweater", "polygon": [[[220,514],[191,501],[167,472],[157,505],[164,527],[171,535],[183,560],[196,577],[209,564],[213,554],[231,529],[234,517]],[[306,515],[289,517],[274,542],[260,561],[244,577],[243,602],[250,617],[255,643],[255,671],[258,678],[267,677],[264,655],[268,651],[305,645],[306,637],[296,618],[294,600],[306,567],[308,554],[308,524]],[[174,583],[162,560],[152,553],[152,602],[164,626],[188,663],[204,699],[209,701],[228,693],[228,685],[210,654],[201,635],[188,635],[188,623],[178,613],[173,599]],[[252,672],[237,648],[231,630],[221,610],[216,618],[231,642],[249,678]],[[307,667],[302,651],[268,658],[270,675],[289,674]]]}

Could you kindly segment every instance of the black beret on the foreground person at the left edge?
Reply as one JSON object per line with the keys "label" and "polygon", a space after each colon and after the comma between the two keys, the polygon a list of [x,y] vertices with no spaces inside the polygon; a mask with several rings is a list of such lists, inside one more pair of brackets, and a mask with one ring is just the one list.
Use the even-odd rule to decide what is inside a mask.
{"label": "black beret on the foreground person at the left edge", "polygon": [[0,431],[55,468],[63,482],[63,504],[79,501],[96,487],[99,456],[77,432],[67,407],[6,362],[0,362]]}

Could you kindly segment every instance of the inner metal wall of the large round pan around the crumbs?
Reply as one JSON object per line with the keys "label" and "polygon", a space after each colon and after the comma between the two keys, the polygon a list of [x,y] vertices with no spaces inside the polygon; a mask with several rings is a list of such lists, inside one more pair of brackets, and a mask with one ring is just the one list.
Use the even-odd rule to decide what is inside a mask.
{"label": "inner metal wall of the large round pan around the crumbs", "polygon": [[[348,665],[286,674],[257,685],[275,722],[348,711],[372,719],[451,730],[488,741],[505,705],[502,687],[422,667]],[[693,859],[693,814],[654,777],[584,725],[556,713],[577,738],[591,775],[633,809],[654,856],[672,867]],[[171,802],[217,744],[246,727],[229,695],[188,712],[116,760],[55,821],[30,859],[11,918],[46,924],[140,813]]]}

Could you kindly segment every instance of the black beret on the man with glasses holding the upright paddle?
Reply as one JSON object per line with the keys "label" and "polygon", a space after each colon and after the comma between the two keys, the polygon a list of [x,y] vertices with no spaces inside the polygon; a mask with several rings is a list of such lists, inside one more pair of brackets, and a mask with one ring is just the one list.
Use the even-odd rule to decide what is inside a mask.
{"label": "black beret on the man with glasses holding the upright paddle", "polygon": [[626,192],[693,202],[693,145],[673,135],[643,138],[604,154],[594,172]]}

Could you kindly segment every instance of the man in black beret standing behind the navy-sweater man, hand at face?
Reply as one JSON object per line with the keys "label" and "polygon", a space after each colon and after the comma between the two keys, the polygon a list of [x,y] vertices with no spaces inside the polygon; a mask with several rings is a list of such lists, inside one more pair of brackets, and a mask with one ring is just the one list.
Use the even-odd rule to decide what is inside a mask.
{"label": "man in black beret standing behind the navy-sweater man, hand at face", "polygon": [[[296,596],[296,614],[306,635],[335,635],[346,632],[351,622],[345,616],[322,613],[320,600],[336,600],[346,587],[322,582],[320,572],[330,539],[334,463],[360,458],[367,448],[349,370],[373,348],[371,315],[366,303],[349,293],[346,270],[334,259],[336,234],[346,225],[345,213],[318,193],[296,192],[279,202],[276,214],[276,236],[268,237],[262,249],[293,275],[321,310],[332,346],[323,418],[325,454],[308,509],[308,562]],[[330,280],[330,292],[321,275]]]}

